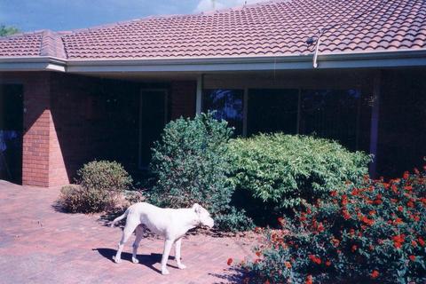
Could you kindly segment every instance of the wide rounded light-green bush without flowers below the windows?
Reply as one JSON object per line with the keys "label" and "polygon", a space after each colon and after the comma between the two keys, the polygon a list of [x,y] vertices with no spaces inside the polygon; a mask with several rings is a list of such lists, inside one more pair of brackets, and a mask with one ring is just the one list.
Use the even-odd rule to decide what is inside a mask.
{"label": "wide rounded light-green bush without flowers below the windows", "polygon": [[371,161],[334,141],[282,133],[233,139],[229,153],[242,203],[249,204],[252,215],[264,216],[327,197],[330,190],[367,174]]}

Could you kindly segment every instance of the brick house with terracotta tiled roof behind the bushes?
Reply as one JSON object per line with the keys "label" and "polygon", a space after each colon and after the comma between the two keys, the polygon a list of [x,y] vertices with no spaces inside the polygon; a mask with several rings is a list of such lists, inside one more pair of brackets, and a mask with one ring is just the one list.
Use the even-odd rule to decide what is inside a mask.
{"label": "brick house with terracotta tiled roof behind the bushes", "polygon": [[164,124],[216,109],[236,135],[283,131],[426,154],[426,2],[278,0],[0,39],[0,178],[67,184],[84,162],[146,168]]}

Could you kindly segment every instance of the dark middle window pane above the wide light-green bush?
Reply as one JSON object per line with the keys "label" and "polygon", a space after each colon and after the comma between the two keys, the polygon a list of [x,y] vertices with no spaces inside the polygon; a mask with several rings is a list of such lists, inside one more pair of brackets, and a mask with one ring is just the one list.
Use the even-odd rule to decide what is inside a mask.
{"label": "dark middle window pane above the wide light-green bush", "polygon": [[297,132],[298,90],[248,91],[248,135],[259,132]]}

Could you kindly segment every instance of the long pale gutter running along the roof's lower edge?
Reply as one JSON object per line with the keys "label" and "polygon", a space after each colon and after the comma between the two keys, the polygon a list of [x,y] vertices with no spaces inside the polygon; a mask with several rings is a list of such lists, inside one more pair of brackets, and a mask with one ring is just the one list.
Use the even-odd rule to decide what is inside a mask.
{"label": "long pale gutter running along the roof's lower edge", "polygon": [[[0,58],[0,71],[114,72],[221,72],[312,69],[312,54],[291,56],[175,59],[58,59],[51,57]],[[426,49],[346,52],[318,55],[319,69],[425,67]]]}

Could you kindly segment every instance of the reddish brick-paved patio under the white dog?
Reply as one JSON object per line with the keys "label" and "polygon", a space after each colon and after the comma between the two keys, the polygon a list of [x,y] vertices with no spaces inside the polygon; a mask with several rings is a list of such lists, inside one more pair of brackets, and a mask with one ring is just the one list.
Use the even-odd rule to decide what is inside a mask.
{"label": "reddish brick-paved patio under the white dog", "polygon": [[178,270],[170,260],[170,275],[162,276],[162,240],[142,241],[140,263],[132,264],[133,237],[124,248],[122,264],[114,264],[112,256],[121,229],[107,227],[99,221],[99,215],[59,212],[54,208],[58,195],[59,188],[12,185],[0,180],[1,283],[240,282],[226,260],[230,256],[253,257],[247,239],[190,235],[182,245],[188,268]]}

